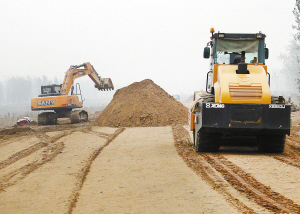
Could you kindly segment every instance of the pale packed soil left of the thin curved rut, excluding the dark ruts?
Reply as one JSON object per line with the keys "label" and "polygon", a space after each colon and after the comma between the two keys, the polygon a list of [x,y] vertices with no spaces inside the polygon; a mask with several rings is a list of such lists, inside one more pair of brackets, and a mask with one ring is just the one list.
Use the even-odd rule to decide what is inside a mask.
{"label": "pale packed soil left of the thin curved rut, excluding the dark ruts", "polygon": [[[54,136],[53,134],[55,133],[47,133],[49,136]],[[45,159],[45,153],[51,155],[51,151],[46,151],[48,148],[46,147],[1,170],[1,173],[4,174],[36,160],[40,161],[44,158],[47,161],[24,179],[1,192],[0,207],[2,212],[68,213],[71,199],[78,189],[83,169],[94,151],[103,147],[106,142],[107,139],[99,138],[93,133],[76,131],[50,144],[61,146],[60,149],[53,148],[58,152],[58,155],[51,161]]]}

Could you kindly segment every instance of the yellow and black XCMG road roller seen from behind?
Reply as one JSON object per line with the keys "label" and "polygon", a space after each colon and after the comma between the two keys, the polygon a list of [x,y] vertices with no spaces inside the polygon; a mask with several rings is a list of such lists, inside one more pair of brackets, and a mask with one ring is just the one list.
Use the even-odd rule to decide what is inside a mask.
{"label": "yellow and black XCMG road roller seen from behind", "polygon": [[222,140],[251,138],[261,152],[283,152],[291,105],[271,96],[266,35],[210,32],[203,54],[210,59],[206,92],[194,92],[190,107],[197,151],[215,152]]}

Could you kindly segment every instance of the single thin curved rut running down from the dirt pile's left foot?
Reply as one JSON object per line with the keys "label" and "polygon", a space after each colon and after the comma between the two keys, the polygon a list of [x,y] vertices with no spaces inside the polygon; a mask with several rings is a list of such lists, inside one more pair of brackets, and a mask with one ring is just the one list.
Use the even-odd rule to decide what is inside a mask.
{"label": "single thin curved rut running down from the dirt pile's left foot", "polygon": [[[82,189],[82,186],[86,180],[86,177],[88,175],[88,173],[90,172],[90,168],[91,165],[93,163],[93,161],[98,157],[98,155],[101,153],[101,151],[110,144],[111,141],[113,141],[119,134],[121,134],[123,131],[125,130],[125,128],[120,128],[118,130],[115,131],[114,134],[110,135],[106,141],[106,143],[96,149],[90,156],[89,160],[87,161],[86,165],[81,169],[80,174],[78,175],[78,183],[76,184],[76,189],[73,191],[72,196],[70,197],[70,204],[69,204],[69,211],[68,214],[72,214],[73,209],[76,207],[76,203],[78,201],[78,197],[80,195],[80,190]],[[93,133],[96,133],[95,131],[92,131]],[[98,134],[99,135],[99,134]],[[102,134],[100,133],[100,135],[102,136]],[[107,134],[105,134],[105,136],[107,137]],[[103,137],[103,136],[102,136]]]}

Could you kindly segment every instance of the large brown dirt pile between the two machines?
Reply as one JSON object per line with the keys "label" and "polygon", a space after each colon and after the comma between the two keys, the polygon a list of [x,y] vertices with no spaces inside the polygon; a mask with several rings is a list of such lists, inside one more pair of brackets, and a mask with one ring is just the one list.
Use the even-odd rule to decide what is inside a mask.
{"label": "large brown dirt pile between the two machines", "polygon": [[188,109],[150,79],[117,90],[96,120],[96,125],[108,127],[187,123]]}

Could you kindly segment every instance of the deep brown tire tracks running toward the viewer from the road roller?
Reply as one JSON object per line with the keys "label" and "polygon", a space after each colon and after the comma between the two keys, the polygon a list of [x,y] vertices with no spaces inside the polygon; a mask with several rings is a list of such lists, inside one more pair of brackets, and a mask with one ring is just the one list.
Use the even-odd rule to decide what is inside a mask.
{"label": "deep brown tire tracks running toward the viewer from the road roller", "polygon": [[175,142],[178,152],[183,157],[187,165],[212,184],[213,187],[223,192],[232,204],[239,208],[242,212],[251,213],[254,212],[254,210],[243,204],[240,199],[231,195],[228,192],[226,184],[224,182],[220,182],[220,179],[214,178],[214,173],[212,173],[213,170],[220,173],[222,177],[244,197],[271,212],[300,212],[299,205],[258,182],[254,179],[254,177],[244,172],[241,168],[234,165],[225,157],[218,154],[196,153],[190,141],[189,133],[183,127],[173,128],[173,132],[175,133],[174,138],[176,140]]}

